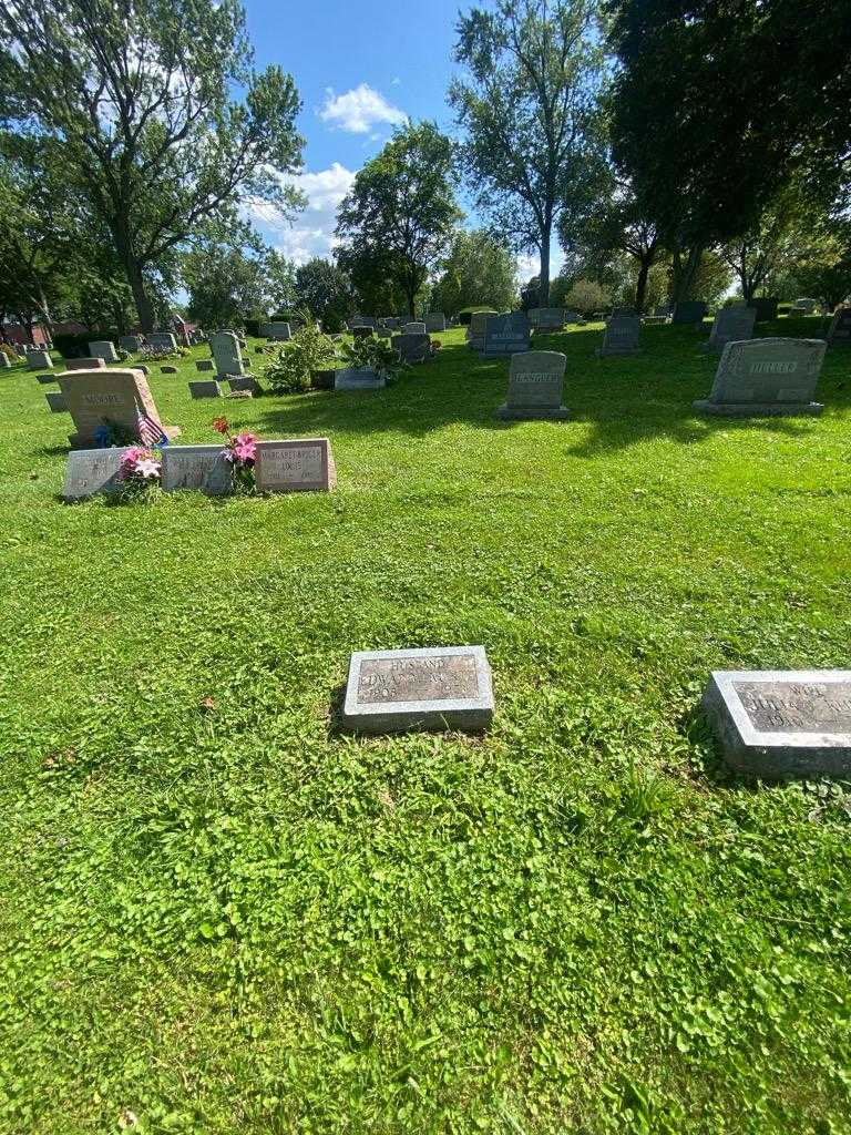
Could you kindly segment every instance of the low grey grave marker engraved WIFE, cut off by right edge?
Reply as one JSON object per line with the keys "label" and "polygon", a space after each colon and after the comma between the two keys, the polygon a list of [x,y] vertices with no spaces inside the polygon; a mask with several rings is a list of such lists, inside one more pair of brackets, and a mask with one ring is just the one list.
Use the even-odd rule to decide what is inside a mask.
{"label": "low grey grave marker engraved WIFE, cut off by right edge", "polygon": [[715,671],[702,708],[740,772],[766,780],[851,772],[851,670]]}

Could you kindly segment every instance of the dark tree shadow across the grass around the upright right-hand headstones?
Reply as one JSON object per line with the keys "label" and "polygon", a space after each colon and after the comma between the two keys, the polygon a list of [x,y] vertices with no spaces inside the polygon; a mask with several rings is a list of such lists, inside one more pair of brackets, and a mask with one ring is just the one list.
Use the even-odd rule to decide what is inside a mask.
{"label": "dark tree shadow across the grass around the upright right-hand headstones", "polygon": [[[760,325],[760,335],[790,335],[792,329],[778,328],[778,322],[786,321]],[[798,335],[807,334],[798,329],[800,320],[793,322]],[[758,428],[799,437],[818,429],[814,419],[734,420],[699,414],[692,402],[708,395],[718,364],[717,354],[701,351],[706,334],[707,328],[698,331],[690,326],[644,327],[641,352],[621,359],[595,355],[595,347],[603,342],[601,327],[537,336],[534,350],[559,351],[567,356],[564,403],[573,418],[547,423],[547,428],[562,431],[568,443],[573,440],[567,452],[580,457],[652,438],[693,445],[718,430]],[[812,331],[809,336],[815,337]],[[828,352],[818,389],[828,411],[851,405],[849,379],[851,352]],[[507,359],[482,359],[465,344],[448,342],[435,360],[404,370],[385,390],[267,398],[259,424],[267,436],[285,437],[381,432],[424,437],[458,423],[489,432],[523,429],[526,422],[502,422],[492,417],[505,401],[507,387]],[[590,436],[585,429],[583,437],[576,438],[576,423],[590,426]]]}

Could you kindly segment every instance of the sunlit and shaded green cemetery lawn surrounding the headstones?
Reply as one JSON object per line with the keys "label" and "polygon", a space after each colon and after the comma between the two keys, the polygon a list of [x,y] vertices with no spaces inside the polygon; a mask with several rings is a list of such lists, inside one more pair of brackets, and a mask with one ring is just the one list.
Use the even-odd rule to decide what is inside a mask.
{"label": "sunlit and shaded green cemetery lawn surrounding the headstones", "polygon": [[[693,330],[574,328],[574,420],[496,423],[441,338],[378,394],[153,368],[183,442],[328,435],[330,495],[65,506],[70,419],[0,375],[3,1133],[851,1130],[851,785],[697,712],[849,664],[851,354],[730,422]],[[487,738],[337,732],[352,650],[458,642]]]}

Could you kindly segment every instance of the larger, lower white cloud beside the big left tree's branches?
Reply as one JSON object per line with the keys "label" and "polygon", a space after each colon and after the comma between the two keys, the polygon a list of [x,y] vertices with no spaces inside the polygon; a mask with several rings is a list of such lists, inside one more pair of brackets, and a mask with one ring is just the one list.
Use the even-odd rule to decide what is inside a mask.
{"label": "larger, lower white cloud beside the big left tree's branches", "polygon": [[337,244],[334,228],[337,207],[354,182],[354,173],[335,161],[328,169],[287,175],[285,180],[301,190],[307,197],[307,208],[290,222],[264,201],[253,201],[247,212],[251,219],[266,229],[275,247],[296,264],[304,264],[313,257],[328,257]]}

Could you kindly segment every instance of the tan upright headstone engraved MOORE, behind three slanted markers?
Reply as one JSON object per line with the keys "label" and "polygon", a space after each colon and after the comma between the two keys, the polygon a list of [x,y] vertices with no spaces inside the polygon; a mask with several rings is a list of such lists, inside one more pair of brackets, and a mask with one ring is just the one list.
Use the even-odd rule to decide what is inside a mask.
{"label": "tan upright headstone engraved MOORE, behind three slanted markers", "polygon": [[58,379],[77,429],[69,438],[71,446],[98,444],[107,424],[136,437],[141,415],[159,426],[167,437],[180,432],[176,426],[161,424],[148,380],[138,370],[77,370],[59,375]]}

